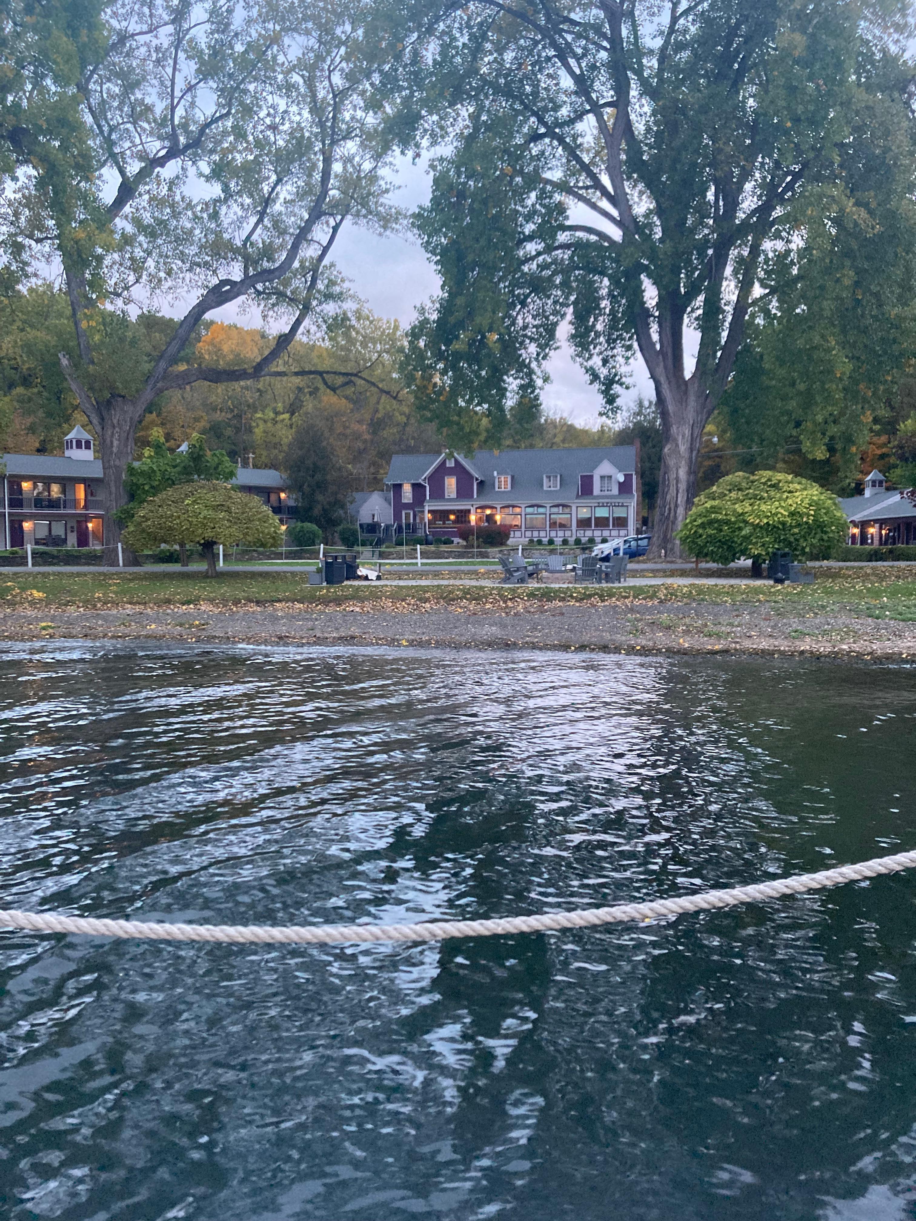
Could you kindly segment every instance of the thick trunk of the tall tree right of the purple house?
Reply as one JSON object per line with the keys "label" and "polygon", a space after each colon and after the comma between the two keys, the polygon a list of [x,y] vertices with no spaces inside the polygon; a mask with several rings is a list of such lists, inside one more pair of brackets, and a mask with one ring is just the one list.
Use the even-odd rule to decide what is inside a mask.
{"label": "thick trunk of the tall tree right of the purple house", "polygon": [[675,535],[694,503],[703,429],[714,403],[694,377],[679,386],[656,382],[656,394],[662,424],[662,470],[649,554],[653,559],[662,556],[677,559],[680,543]]}

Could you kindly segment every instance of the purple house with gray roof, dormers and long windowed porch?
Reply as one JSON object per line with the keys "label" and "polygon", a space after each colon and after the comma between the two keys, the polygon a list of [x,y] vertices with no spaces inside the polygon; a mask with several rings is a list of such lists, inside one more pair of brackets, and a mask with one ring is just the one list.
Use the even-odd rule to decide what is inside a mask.
{"label": "purple house with gray roof, dormers and long windowed porch", "polygon": [[517,542],[601,541],[641,527],[638,471],[635,446],[394,454],[385,488],[396,534],[503,525]]}

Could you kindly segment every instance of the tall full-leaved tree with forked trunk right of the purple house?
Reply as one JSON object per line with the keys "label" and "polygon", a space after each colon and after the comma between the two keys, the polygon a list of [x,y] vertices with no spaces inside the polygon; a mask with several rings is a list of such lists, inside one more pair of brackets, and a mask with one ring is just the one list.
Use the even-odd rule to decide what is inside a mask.
{"label": "tall full-leaved tree with forked trunk right of the purple house", "polygon": [[[412,347],[426,409],[471,437],[482,413],[496,443],[506,396],[490,409],[469,381],[480,370],[497,391],[503,376],[530,393],[545,332],[572,309],[574,350],[608,404],[635,349],[649,369],[663,438],[652,549],[671,554],[762,259],[795,239],[805,190],[843,198],[859,112],[879,98],[910,121],[912,72],[896,51],[909,13],[889,28],[889,11],[879,0],[443,7],[425,87],[442,103],[434,134],[448,112],[458,136],[418,219],[443,280]],[[429,45],[408,50],[419,84]]]}

